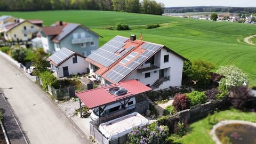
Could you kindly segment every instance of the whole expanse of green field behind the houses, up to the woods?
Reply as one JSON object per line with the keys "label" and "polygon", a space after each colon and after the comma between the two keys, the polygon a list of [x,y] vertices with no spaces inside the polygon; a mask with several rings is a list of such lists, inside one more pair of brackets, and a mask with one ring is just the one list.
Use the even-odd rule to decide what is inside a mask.
{"label": "whole expanse of green field behind the houses, up to the woods", "polygon": [[[215,64],[214,70],[220,66],[235,65],[249,74],[250,85],[256,85],[256,46],[243,42],[246,36],[256,34],[255,25],[108,11],[0,12],[0,15],[3,14],[24,19],[42,19],[44,25],[59,20],[82,23],[103,36],[100,45],[116,35],[139,36],[142,31],[143,40],[164,44],[189,60],[211,61]],[[117,22],[135,27],[126,31],[101,28],[115,26]],[[140,27],[150,23],[164,24],[156,29]]]}

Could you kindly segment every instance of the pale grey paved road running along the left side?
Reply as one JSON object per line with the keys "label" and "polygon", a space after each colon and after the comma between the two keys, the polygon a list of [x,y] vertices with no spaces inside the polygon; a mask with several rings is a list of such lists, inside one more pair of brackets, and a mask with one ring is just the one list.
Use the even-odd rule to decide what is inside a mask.
{"label": "pale grey paved road running along the left side", "polygon": [[[3,89],[13,87],[13,89]],[[29,143],[89,143],[76,126],[22,71],[0,57],[0,89]]]}

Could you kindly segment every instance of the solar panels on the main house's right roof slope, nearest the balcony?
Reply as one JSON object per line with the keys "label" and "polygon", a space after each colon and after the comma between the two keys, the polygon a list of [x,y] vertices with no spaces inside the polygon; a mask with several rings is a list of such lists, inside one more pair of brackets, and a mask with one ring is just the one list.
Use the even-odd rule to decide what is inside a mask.
{"label": "solar panels on the main house's right roof slope, nearest the balcony", "polygon": [[[108,71],[108,73],[105,75],[108,79],[111,81],[118,83],[120,82],[124,77],[126,77],[128,74],[130,74],[135,68],[139,67],[143,62],[148,60],[152,55],[157,52],[159,49],[161,49],[163,45],[157,45],[157,44],[151,44],[151,43],[145,43],[141,46],[142,49],[145,49],[146,51],[140,54],[136,59],[131,61],[127,66],[123,66],[118,64],[115,68]],[[134,58],[138,55],[137,52],[132,52],[128,56]],[[127,57],[128,57],[127,56]],[[125,57],[121,63],[124,65],[129,62],[130,57]],[[127,58],[127,59],[126,59]],[[131,60],[131,59],[130,59]]]}

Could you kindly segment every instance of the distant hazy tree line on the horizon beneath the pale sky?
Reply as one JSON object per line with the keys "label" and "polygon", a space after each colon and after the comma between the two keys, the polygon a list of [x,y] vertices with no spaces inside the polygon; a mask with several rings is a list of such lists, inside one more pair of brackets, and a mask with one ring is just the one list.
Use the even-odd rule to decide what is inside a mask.
{"label": "distant hazy tree line on the horizon beneath the pale sky", "polygon": [[256,7],[191,6],[191,7],[165,7],[164,9],[164,13],[185,13],[185,12],[256,13]]}

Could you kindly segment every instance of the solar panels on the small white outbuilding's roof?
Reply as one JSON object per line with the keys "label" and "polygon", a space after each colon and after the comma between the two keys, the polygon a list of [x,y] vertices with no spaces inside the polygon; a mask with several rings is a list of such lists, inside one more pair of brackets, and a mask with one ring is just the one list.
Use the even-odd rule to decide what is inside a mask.
{"label": "solar panels on the small white outbuilding's roof", "polygon": [[55,52],[54,54],[52,54],[49,57],[49,59],[51,59],[54,63],[59,65],[59,63],[61,63],[63,60],[66,60],[67,58],[69,58],[74,53],[75,52],[70,51],[70,50],[66,49],[65,47],[63,47],[62,49],[60,49],[60,51]]}

